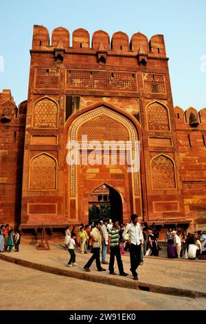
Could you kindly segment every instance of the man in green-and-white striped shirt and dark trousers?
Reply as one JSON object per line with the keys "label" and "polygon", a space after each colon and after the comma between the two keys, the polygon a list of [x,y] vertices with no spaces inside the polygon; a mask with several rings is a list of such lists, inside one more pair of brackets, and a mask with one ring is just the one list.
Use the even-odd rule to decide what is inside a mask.
{"label": "man in green-and-white striped shirt and dark trousers", "polygon": [[114,263],[115,263],[115,256],[116,256],[119,275],[128,276],[128,274],[124,272],[121,254],[120,254],[118,221],[116,221],[113,227],[111,228],[111,230],[108,231],[108,253],[110,254],[110,260],[108,265],[109,274],[116,274],[114,272]]}

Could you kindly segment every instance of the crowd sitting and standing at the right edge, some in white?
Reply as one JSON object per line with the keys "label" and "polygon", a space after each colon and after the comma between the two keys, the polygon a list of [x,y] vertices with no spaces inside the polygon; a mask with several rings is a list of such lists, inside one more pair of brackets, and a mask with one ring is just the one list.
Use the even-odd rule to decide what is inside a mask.
{"label": "crowd sitting and standing at the right edge, some in white", "polygon": [[185,238],[184,233],[177,229],[168,229],[165,234],[165,242],[168,242],[168,258],[170,259],[206,259],[206,235],[201,231],[188,233]]}

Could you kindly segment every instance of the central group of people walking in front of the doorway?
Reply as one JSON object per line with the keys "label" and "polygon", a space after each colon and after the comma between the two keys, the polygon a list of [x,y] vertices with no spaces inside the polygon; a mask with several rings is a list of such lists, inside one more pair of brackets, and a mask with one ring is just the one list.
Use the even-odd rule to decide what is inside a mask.
{"label": "central group of people walking in front of the doorway", "polygon": [[[117,259],[117,266],[120,276],[128,276],[124,272],[122,263],[122,254],[125,254],[123,243],[130,252],[130,272],[133,274],[133,279],[138,280],[137,267],[141,263],[141,252],[144,245],[144,235],[141,230],[141,225],[138,223],[137,214],[131,216],[131,223],[126,227],[119,226],[119,221],[114,223],[110,220],[95,221],[90,226],[80,224],[78,235],[76,229],[73,228],[69,232],[69,227],[65,231],[65,245],[68,248],[70,259],[67,263],[68,267],[76,265],[76,254],[74,248],[78,247],[77,238],[80,238],[81,253],[87,253],[87,249],[91,247],[92,256],[84,265],[84,270],[90,272],[90,267],[95,260],[98,271],[106,271],[100,262],[100,250],[102,251],[102,264],[108,265],[109,274],[115,275],[114,263]],[[109,262],[106,261],[106,254],[110,254]]]}

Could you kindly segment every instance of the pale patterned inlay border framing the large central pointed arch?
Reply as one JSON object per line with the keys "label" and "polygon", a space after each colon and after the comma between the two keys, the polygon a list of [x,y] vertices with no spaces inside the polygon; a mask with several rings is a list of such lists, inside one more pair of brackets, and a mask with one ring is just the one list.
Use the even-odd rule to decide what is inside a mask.
{"label": "pale patterned inlay border framing the large central pointed arch", "polygon": [[[111,117],[120,123],[122,123],[127,129],[130,134],[130,139],[133,144],[133,148],[135,145],[135,141],[139,140],[139,134],[137,133],[137,130],[135,129],[135,125],[131,121],[129,121],[126,117],[122,116],[121,113],[118,112],[113,112],[109,108],[106,107],[105,103],[102,105],[98,105],[95,109],[91,110],[90,112],[82,112],[82,117],[80,117],[78,120],[76,120],[73,124],[71,124],[71,132],[69,132],[70,136],[69,139],[70,141],[76,141],[76,133],[78,132],[78,128],[80,125],[86,122],[87,119],[93,119],[94,117],[97,117],[101,114],[106,114],[108,117]],[[133,151],[134,152],[134,151]],[[135,195],[139,194],[139,172],[133,172],[134,176],[134,187],[135,187]],[[76,165],[71,165],[70,166],[70,196],[73,198],[76,196]]]}

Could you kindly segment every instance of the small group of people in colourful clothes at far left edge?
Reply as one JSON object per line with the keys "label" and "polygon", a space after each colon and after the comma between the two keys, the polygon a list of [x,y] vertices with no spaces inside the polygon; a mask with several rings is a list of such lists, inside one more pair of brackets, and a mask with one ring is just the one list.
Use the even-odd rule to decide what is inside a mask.
{"label": "small group of people in colourful clothes at far left edge", "polygon": [[15,247],[15,252],[19,252],[19,244],[21,234],[10,228],[9,224],[1,225],[0,227],[0,252],[12,252]]}

